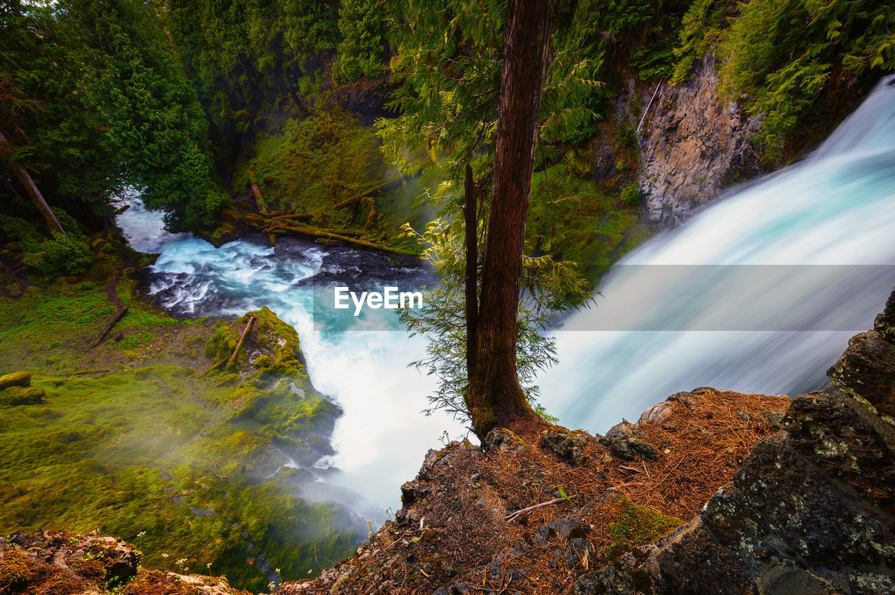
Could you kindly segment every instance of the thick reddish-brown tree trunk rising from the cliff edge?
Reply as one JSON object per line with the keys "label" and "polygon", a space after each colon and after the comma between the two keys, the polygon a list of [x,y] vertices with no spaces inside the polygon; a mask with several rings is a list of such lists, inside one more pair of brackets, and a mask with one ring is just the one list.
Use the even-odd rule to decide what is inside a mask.
{"label": "thick reddish-brown tree trunk rising from the cliff edge", "polygon": [[483,438],[535,415],[516,375],[516,313],[553,0],[509,0],[494,182],[469,401]]}

